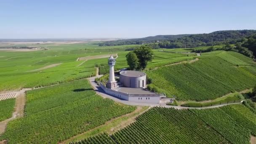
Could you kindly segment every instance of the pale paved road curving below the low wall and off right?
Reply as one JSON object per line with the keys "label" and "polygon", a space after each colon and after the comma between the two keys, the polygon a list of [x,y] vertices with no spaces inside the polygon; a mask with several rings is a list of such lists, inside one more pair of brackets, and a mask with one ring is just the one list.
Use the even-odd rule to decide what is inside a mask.
{"label": "pale paved road curving below the low wall and off right", "polygon": [[[226,105],[230,105],[230,104],[221,104],[221,105],[216,105],[216,106],[211,106],[211,107],[180,107],[180,106],[169,106],[169,105],[166,105],[166,104],[141,103],[141,102],[134,102],[134,101],[126,101],[126,100],[115,98],[114,96],[111,96],[111,95],[105,93],[101,89],[101,87],[94,82],[96,77],[101,77],[101,76],[102,75],[98,75],[98,76],[95,76],[95,77],[88,78],[91,85],[93,86],[93,89],[96,91],[97,94],[99,94],[103,98],[109,98],[109,99],[112,99],[116,102],[120,102],[122,104],[133,105],[133,106],[171,107],[171,108],[175,108],[175,109],[209,109],[209,108],[216,108],[216,107],[223,107],[223,106],[226,106]],[[240,103],[231,103],[231,104],[240,104]]]}

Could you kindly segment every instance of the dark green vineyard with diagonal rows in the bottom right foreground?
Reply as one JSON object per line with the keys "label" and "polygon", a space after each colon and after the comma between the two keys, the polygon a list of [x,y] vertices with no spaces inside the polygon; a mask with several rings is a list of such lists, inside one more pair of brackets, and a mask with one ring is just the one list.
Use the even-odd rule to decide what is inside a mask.
{"label": "dark green vineyard with diagonal rows in the bottom right foreground", "polygon": [[103,133],[76,144],[248,144],[256,136],[256,124],[247,119],[254,114],[248,110],[241,104],[203,110],[155,107],[112,136]]}

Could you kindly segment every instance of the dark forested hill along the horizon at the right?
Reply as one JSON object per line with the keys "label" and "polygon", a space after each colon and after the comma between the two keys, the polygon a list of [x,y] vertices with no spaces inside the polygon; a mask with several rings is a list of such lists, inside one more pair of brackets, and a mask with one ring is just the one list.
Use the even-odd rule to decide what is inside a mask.
{"label": "dark forested hill along the horizon at the right", "polygon": [[209,34],[157,35],[129,40],[107,41],[103,45],[130,45],[159,42],[161,48],[192,48],[198,46],[235,44],[243,38],[256,34],[256,30],[225,30]]}

